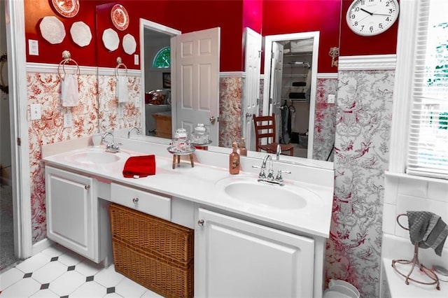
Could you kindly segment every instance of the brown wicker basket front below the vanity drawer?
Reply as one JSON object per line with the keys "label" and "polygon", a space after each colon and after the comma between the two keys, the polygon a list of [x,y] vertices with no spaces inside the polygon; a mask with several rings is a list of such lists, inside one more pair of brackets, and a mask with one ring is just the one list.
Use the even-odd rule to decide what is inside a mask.
{"label": "brown wicker basket front below the vanity drawer", "polygon": [[194,230],[111,204],[116,271],[165,297],[193,297]]}

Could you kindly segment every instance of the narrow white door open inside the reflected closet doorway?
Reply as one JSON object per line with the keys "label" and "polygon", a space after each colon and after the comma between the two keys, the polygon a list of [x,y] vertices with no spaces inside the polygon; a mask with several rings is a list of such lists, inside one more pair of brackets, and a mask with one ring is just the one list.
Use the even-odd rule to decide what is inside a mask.
{"label": "narrow white door open inside the reflected closet doorway", "polygon": [[281,132],[281,80],[283,76],[283,45],[272,42],[271,86],[269,88],[269,115],[275,114],[276,142]]}

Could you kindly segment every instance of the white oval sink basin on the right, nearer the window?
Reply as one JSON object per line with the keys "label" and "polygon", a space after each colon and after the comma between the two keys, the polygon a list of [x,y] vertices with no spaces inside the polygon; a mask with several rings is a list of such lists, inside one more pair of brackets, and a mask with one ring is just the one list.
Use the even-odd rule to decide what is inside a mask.
{"label": "white oval sink basin on the right, nearer the window", "polygon": [[228,197],[244,204],[262,208],[302,209],[310,200],[318,201],[317,194],[293,184],[270,185],[257,178],[224,178],[216,185]]}

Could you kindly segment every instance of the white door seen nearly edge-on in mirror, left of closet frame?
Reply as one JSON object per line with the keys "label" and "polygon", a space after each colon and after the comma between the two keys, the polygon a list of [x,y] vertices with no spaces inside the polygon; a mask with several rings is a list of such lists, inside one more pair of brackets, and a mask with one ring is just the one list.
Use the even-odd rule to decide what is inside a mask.
{"label": "white door seen nearly edge-on in mirror, left of closet frame", "polygon": [[260,63],[262,36],[251,28],[246,28],[246,55],[244,70],[244,97],[241,103],[242,136],[246,137],[246,148],[255,150],[255,130],[252,115],[258,115],[260,101]]}

